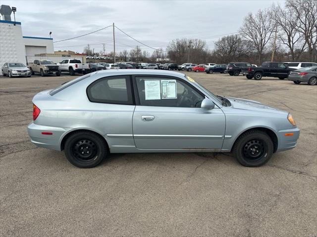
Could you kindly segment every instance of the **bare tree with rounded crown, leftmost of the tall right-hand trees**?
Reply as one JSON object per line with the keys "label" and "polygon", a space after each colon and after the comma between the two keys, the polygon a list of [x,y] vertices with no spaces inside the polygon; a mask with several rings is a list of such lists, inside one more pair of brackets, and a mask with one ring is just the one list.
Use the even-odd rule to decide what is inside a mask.
{"label": "bare tree with rounded crown, leftmost of the tall right-hand trees", "polygon": [[243,20],[242,36],[257,49],[260,64],[265,45],[271,39],[273,29],[274,20],[269,9],[260,9],[255,15],[250,12]]}

